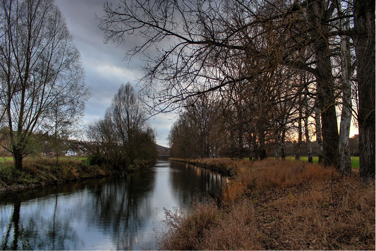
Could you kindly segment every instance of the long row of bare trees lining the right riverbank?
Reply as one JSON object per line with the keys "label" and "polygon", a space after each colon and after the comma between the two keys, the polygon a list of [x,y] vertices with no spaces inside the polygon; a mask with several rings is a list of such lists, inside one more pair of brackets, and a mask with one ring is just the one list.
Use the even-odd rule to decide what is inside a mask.
{"label": "long row of bare trees lining the right riverbank", "polygon": [[346,175],[354,118],[360,178],[374,179],[374,1],[123,0],[104,10],[106,41],[139,41],[125,60],[145,61],[150,111],[182,110],[170,144],[265,158],[273,140],[284,158],[295,132],[299,144],[315,136],[320,161]]}

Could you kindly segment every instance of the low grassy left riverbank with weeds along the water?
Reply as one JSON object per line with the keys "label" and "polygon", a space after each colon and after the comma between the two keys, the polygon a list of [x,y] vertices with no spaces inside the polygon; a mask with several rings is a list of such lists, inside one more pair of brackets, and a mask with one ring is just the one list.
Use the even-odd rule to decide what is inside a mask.
{"label": "low grassy left riverbank with weeds along the water", "polygon": [[59,184],[83,179],[101,178],[111,175],[123,175],[146,167],[148,162],[141,161],[130,165],[118,173],[109,165],[92,165],[90,158],[36,158],[25,159],[23,170],[17,170],[13,161],[0,162],[0,193]]}

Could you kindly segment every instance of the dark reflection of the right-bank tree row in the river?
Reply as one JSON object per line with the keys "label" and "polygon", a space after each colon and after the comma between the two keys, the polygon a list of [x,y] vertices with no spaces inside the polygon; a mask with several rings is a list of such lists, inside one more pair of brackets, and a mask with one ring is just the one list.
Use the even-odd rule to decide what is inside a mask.
{"label": "dark reflection of the right-bank tree row in the river", "polygon": [[170,176],[172,192],[181,204],[202,202],[205,195],[215,197],[221,191],[224,178],[217,171],[181,162],[171,162],[171,168],[176,170]]}

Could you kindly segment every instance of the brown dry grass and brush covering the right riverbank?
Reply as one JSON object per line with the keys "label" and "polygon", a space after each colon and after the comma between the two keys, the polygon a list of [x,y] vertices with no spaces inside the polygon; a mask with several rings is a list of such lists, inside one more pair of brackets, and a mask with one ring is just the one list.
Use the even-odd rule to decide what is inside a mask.
{"label": "brown dry grass and brush covering the right riverbank", "polygon": [[[375,184],[300,161],[202,159],[235,174],[220,205],[165,211],[164,250],[375,250]],[[215,168],[214,168],[215,169]]]}

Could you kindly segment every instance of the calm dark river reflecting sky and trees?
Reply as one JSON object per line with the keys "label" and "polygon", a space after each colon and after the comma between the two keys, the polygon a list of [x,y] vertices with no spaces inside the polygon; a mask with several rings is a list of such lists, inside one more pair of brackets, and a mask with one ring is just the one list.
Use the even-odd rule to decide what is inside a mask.
{"label": "calm dark river reflecting sky and trees", "polygon": [[225,181],[216,171],[159,160],[123,178],[8,193],[0,197],[0,249],[156,249],[164,207],[189,214]]}

